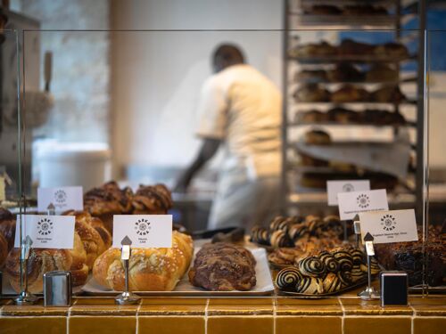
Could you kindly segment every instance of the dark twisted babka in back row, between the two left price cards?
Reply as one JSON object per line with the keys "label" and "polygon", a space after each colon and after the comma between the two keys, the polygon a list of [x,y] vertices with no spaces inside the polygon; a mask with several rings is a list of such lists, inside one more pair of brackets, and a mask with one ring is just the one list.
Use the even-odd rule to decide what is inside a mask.
{"label": "dark twisted babka in back row, between the two left price cards", "polygon": [[132,211],[133,191],[120,189],[118,183],[111,181],[87,191],[84,195],[84,209],[92,216],[99,217],[109,232],[113,231],[113,215],[130,214]]}

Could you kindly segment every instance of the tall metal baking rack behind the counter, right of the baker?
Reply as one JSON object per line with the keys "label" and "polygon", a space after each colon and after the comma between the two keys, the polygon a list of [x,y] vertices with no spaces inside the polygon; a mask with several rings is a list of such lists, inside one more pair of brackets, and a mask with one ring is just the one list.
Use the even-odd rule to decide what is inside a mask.
{"label": "tall metal baking rack behind the counter, right of the baker", "polygon": [[[407,119],[407,122],[401,124],[390,125],[378,125],[378,124],[364,124],[364,123],[343,123],[343,126],[376,126],[376,127],[392,127],[393,131],[398,132],[402,128],[409,129],[415,133],[415,142],[411,143],[411,154],[415,157],[414,166],[408,173],[407,180],[400,180],[401,186],[398,186],[395,191],[389,194],[389,201],[391,208],[417,208],[417,219],[422,221],[422,212],[424,208],[423,200],[423,187],[424,187],[424,168],[423,168],[423,138],[424,138],[424,102],[423,92],[425,90],[425,82],[423,80],[423,70],[425,69],[425,36],[422,33],[425,27],[425,5],[417,4],[417,1],[404,1],[392,0],[381,1],[376,0],[373,2],[363,1],[362,4],[373,4],[383,6],[387,9],[389,14],[383,15],[345,15],[345,14],[323,14],[315,15],[309,12],[305,12],[304,8],[308,8],[314,4],[329,4],[336,6],[344,6],[348,4],[361,4],[360,1],[351,0],[337,0],[337,1],[324,1],[324,0],[284,0],[284,35],[283,35],[283,124],[282,124],[282,208],[284,214],[302,213],[302,208],[318,208],[323,210],[326,208],[326,193],[325,190],[316,190],[305,187],[296,187],[296,173],[311,172],[311,173],[329,173],[329,170],[335,172],[335,169],[330,167],[308,167],[296,165],[295,150],[290,133],[295,128],[301,126],[318,126],[318,128],[324,129],[326,126],[337,126],[336,122],[318,122],[302,123],[295,118],[296,108],[305,108],[305,110],[318,109],[320,106],[324,109],[327,106],[343,107],[343,106],[355,106],[364,105],[364,109],[373,106],[380,108],[386,105],[394,112],[399,112],[401,107],[413,108],[413,119]],[[409,10],[410,8],[410,10]],[[416,9],[416,10],[414,10]],[[410,20],[419,18],[417,31],[401,30],[401,26]],[[411,53],[406,57],[384,57],[384,56],[369,56],[369,55],[351,55],[351,56],[296,56],[293,53],[289,53],[293,48],[293,41],[296,34],[301,33],[303,30],[386,30],[394,31],[394,40],[401,44],[406,44],[409,41],[417,40],[418,47],[417,52]],[[305,44],[310,41],[302,42]],[[399,71],[399,78],[397,80],[356,80],[356,81],[329,81],[321,78],[306,78],[296,80],[294,78],[296,63],[301,67],[310,66],[310,69],[326,69],[328,65],[334,65],[340,61],[351,61],[355,64],[371,64],[371,63],[391,63],[394,64]],[[412,75],[401,75],[400,66],[405,63],[413,62],[417,64],[417,71]],[[416,90],[416,95],[410,99],[406,99],[401,102],[295,102],[293,99],[293,93],[296,87],[304,84],[318,84],[324,88],[330,88],[333,86],[342,86],[348,84],[352,86],[402,86],[412,85]],[[329,89],[330,90],[330,89]],[[373,108],[372,107],[372,108]],[[318,158],[318,157],[313,157]],[[342,172],[341,172],[342,174]],[[348,176],[348,173],[344,173]]]}

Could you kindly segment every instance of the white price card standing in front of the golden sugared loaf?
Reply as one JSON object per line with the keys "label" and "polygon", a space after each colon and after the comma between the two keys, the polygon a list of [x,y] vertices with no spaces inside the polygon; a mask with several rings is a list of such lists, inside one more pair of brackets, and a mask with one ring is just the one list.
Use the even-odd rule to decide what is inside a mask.
{"label": "white price card standing in front of the golden sugared loaf", "polygon": [[172,247],[171,215],[115,215],[113,216],[113,247],[121,248],[128,237],[132,248]]}

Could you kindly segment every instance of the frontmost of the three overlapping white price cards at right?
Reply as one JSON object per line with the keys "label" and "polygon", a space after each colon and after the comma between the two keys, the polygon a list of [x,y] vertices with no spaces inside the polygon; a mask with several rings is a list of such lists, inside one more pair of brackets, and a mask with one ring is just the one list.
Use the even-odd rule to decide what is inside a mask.
{"label": "frontmost of the three overlapping white price cards at right", "polygon": [[359,214],[361,236],[370,233],[374,243],[417,241],[415,211],[391,210]]}

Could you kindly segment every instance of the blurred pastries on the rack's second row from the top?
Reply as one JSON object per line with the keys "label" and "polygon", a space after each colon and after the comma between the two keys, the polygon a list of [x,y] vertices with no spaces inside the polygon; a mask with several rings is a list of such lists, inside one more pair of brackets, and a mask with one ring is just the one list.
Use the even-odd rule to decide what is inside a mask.
{"label": "blurred pastries on the rack's second row from the top", "polygon": [[395,42],[373,45],[346,38],[343,39],[340,45],[331,45],[326,41],[298,45],[288,50],[288,55],[295,58],[355,57],[367,55],[374,57],[374,59],[401,59],[409,57],[409,50],[405,45]]}

